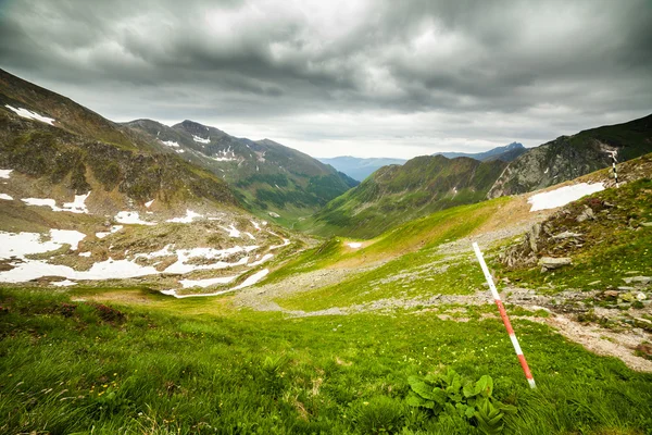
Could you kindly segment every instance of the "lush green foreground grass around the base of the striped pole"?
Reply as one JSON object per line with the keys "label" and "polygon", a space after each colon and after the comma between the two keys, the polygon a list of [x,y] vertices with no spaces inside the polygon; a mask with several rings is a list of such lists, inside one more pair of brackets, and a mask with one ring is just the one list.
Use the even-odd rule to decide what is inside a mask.
{"label": "lush green foreground grass around the base of the striped pole", "polygon": [[515,321],[539,388],[529,390],[499,321],[427,313],[287,319],[183,314],[215,301],[71,303],[0,290],[2,433],[467,434],[409,409],[408,376],[454,369],[494,378],[517,407],[506,433],[643,434],[652,376]]}

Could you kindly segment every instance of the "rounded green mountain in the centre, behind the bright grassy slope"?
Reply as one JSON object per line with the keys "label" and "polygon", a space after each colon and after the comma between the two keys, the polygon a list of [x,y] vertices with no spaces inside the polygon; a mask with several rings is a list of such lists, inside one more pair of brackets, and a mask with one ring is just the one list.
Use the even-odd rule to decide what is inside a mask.
{"label": "rounded green mountain in the centre, behind the bright grassy slope", "polygon": [[422,156],[384,166],[319,211],[316,231],[368,238],[437,210],[480,201],[506,164]]}

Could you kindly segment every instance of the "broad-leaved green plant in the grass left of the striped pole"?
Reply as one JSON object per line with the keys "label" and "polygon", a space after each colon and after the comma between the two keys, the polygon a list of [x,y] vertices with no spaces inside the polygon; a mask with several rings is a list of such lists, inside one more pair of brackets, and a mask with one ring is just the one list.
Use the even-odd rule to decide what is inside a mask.
{"label": "broad-leaved green plant in the grass left of the striped pole", "polygon": [[502,403],[493,394],[493,380],[489,375],[477,382],[462,380],[455,371],[447,374],[410,376],[408,405],[429,410],[434,415],[459,414],[485,434],[499,434],[504,428],[505,413],[516,412],[516,407]]}

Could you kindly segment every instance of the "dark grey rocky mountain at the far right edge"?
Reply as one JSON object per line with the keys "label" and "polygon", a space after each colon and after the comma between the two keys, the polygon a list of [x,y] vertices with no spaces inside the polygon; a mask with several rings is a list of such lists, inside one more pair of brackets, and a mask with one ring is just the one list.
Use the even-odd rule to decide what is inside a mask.
{"label": "dark grey rocky mountain at the far right edge", "polygon": [[507,165],[488,198],[537,190],[610,166],[612,151],[620,162],[651,152],[652,115],[561,136],[528,149]]}

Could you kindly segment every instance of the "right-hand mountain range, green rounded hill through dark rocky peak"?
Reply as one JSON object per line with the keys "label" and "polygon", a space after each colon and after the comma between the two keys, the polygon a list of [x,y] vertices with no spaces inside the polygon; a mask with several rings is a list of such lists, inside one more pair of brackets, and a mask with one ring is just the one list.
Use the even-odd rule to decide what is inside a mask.
{"label": "right-hand mountain range, green rounded hill through dark rocky peak", "polygon": [[[562,136],[540,147],[511,144],[479,161],[443,154],[417,157],[377,170],[314,215],[317,234],[369,238],[436,210],[524,194],[652,151],[652,115]],[[512,161],[501,157],[519,154]],[[449,154],[451,156],[451,154]]]}

